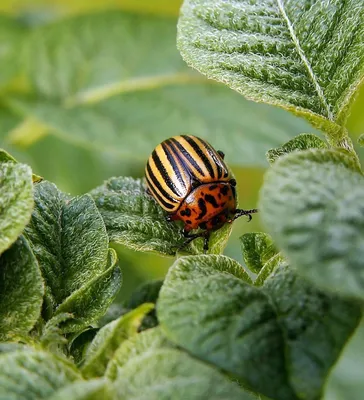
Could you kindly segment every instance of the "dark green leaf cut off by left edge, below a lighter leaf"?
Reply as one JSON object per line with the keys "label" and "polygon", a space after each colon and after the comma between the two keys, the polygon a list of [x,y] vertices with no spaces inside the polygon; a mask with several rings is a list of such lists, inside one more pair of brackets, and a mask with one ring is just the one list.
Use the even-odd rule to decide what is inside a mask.
{"label": "dark green leaf cut off by left edge, below a lighter leaf", "polygon": [[27,241],[20,237],[0,257],[0,340],[26,335],[37,322],[43,280]]}

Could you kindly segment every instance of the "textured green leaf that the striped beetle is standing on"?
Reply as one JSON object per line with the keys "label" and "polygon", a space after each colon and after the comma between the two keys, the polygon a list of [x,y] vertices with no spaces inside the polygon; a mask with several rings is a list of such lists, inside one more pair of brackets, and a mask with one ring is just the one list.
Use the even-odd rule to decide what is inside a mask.
{"label": "textured green leaf that the striped beetle is standing on", "polygon": [[[138,251],[156,251],[174,255],[178,250],[202,252],[203,240],[197,239],[183,247],[186,239],[180,223],[166,221],[166,213],[146,193],[141,180],[111,178],[91,192],[104,219],[111,242],[123,244]],[[222,251],[230,234],[226,226],[211,236],[210,252]]]}

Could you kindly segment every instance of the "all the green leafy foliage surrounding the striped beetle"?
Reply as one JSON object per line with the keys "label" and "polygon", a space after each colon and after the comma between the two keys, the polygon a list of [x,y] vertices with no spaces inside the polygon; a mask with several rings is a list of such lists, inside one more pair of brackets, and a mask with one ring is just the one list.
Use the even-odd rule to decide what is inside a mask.
{"label": "all the green leafy foliage surrounding the striped beetle", "polygon": [[[363,10],[185,0],[183,58],[233,92],[184,65],[167,3],[46,24],[1,16],[1,399],[316,400],[350,383],[349,364],[335,364],[364,300],[364,182],[347,123]],[[222,255],[231,224],[201,254],[202,240],[185,245],[143,180],[125,176],[181,132],[229,164],[270,164],[258,206],[269,234],[240,237],[245,265]],[[82,195],[52,183],[84,164]],[[110,178],[116,165],[122,176]],[[177,259],[122,303],[143,252]]]}

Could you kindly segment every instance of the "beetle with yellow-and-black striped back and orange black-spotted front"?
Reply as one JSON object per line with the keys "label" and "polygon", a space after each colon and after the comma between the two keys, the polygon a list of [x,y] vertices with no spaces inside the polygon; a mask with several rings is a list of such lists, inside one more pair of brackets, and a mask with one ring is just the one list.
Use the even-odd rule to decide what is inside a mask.
{"label": "beetle with yellow-and-black striped back and orange black-spotted front", "polygon": [[160,143],[147,161],[147,192],[167,211],[167,221],[183,221],[184,246],[203,237],[207,251],[212,231],[242,215],[250,221],[258,211],[237,209],[236,180],[224,157],[205,140],[181,135]]}

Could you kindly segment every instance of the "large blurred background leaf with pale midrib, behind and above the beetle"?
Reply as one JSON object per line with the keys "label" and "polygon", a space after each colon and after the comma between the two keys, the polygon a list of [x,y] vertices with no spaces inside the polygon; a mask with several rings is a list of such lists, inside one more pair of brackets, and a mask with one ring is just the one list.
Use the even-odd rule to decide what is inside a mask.
{"label": "large blurred background leaf with pale midrib, behind and above the beetle", "polygon": [[162,140],[191,132],[230,163],[265,166],[269,148],[307,129],[192,73],[175,31],[174,19],[115,11],[37,28],[27,51],[37,98],[10,104],[68,143],[140,162]]}

